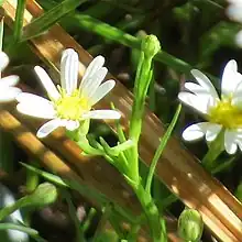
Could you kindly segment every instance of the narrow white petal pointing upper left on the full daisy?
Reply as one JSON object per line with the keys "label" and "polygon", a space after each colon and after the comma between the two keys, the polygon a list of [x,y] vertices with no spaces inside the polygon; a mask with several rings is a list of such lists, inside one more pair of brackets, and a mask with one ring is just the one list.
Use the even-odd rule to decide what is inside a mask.
{"label": "narrow white petal pointing upper left on the full daisy", "polygon": [[55,85],[53,84],[52,79],[47,75],[47,73],[41,66],[35,66],[34,70],[37,74],[38,79],[41,80],[45,90],[47,91],[48,97],[54,100],[57,100],[61,97],[61,95]]}

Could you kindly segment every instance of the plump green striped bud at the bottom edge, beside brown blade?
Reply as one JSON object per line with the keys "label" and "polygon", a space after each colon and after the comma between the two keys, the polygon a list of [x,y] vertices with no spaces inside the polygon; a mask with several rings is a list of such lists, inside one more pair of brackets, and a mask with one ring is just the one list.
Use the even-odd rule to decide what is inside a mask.
{"label": "plump green striped bud at the bottom edge, beside brown blade", "polygon": [[178,219],[178,234],[185,241],[197,242],[201,239],[204,222],[195,209],[185,209]]}

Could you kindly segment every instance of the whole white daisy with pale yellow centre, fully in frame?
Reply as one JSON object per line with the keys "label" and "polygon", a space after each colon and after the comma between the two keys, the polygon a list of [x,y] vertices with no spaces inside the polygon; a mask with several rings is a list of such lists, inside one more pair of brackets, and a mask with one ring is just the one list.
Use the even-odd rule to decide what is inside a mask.
{"label": "whole white daisy with pale yellow centre, fully in frame", "polygon": [[58,127],[76,130],[80,122],[87,119],[120,119],[120,112],[114,110],[91,110],[91,107],[102,99],[116,85],[114,80],[105,79],[108,69],[102,67],[105,58],[97,56],[87,67],[82,80],[77,88],[78,54],[67,48],[61,61],[61,87],[53,84],[47,73],[35,66],[42,85],[47,91],[50,100],[36,95],[22,92],[16,97],[16,109],[28,116],[51,119],[38,131],[38,138],[45,138]]}

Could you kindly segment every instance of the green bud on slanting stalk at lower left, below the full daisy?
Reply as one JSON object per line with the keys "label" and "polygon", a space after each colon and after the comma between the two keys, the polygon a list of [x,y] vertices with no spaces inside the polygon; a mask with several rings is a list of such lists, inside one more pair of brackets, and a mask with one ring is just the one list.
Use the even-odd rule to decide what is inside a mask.
{"label": "green bud on slanting stalk at lower left, below the full daisy", "polygon": [[29,206],[42,207],[53,204],[57,199],[57,189],[53,184],[43,183],[37,186],[33,194],[26,196],[25,199]]}

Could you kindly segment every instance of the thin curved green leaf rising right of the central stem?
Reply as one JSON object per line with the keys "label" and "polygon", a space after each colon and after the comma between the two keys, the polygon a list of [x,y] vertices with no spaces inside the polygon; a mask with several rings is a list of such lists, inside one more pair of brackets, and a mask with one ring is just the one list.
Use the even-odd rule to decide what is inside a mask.
{"label": "thin curved green leaf rising right of the central stem", "polygon": [[165,132],[164,136],[162,138],[161,140],[161,143],[155,152],[155,155],[152,160],[152,163],[151,163],[151,167],[148,169],[148,175],[147,175],[147,180],[146,180],[146,186],[145,186],[145,190],[150,194],[151,193],[151,186],[152,186],[152,180],[153,180],[153,176],[154,176],[154,173],[155,173],[155,167],[157,165],[157,162],[160,160],[160,156],[162,155],[170,135],[172,135],[172,132],[176,125],[176,122],[178,120],[178,117],[179,117],[179,113],[180,113],[180,110],[182,110],[182,105],[178,106],[177,110],[176,110],[176,113],[175,116],[173,117],[173,120],[167,129],[167,131]]}

